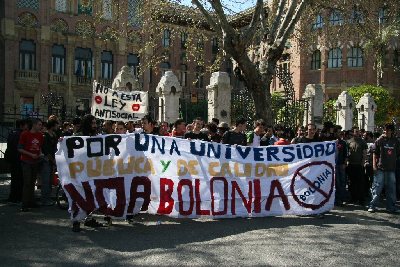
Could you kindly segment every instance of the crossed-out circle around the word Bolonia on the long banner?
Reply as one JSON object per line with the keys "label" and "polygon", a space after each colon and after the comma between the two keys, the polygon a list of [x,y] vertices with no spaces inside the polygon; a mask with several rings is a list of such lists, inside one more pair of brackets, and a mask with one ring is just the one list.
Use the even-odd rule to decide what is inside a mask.
{"label": "crossed-out circle around the word Bolonia on the long banner", "polygon": [[[309,177],[306,177],[303,173],[305,171],[305,169],[311,169],[313,168],[314,170],[322,170],[323,172],[325,172],[326,170],[329,170],[330,175],[331,175],[331,181],[330,184],[327,184],[324,188],[321,188],[321,183],[319,183],[318,181],[312,181],[309,179]],[[314,171],[313,176],[318,177],[318,175],[316,175],[316,171]],[[321,175],[322,173],[320,173]],[[295,185],[296,185],[296,181],[303,181],[305,182],[310,189],[314,190],[314,194],[320,194],[322,195],[322,201],[320,203],[316,203],[316,204],[310,204],[305,202],[304,200],[301,200],[299,198],[299,196],[296,194],[295,192]],[[319,186],[316,186],[316,182],[318,182]],[[326,181],[329,182],[329,181]],[[292,178],[292,184],[290,185],[290,191],[292,193],[292,196],[294,198],[294,200],[302,207],[304,208],[310,208],[312,210],[316,210],[321,208],[323,205],[325,205],[326,202],[329,201],[332,192],[333,192],[333,185],[334,185],[335,179],[334,179],[334,168],[333,165],[330,164],[327,161],[314,161],[308,164],[305,164],[303,166],[301,166],[300,168],[297,169],[297,171],[294,173],[293,178]],[[297,183],[299,184],[299,183]],[[304,189],[304,188],[301,188]]]}

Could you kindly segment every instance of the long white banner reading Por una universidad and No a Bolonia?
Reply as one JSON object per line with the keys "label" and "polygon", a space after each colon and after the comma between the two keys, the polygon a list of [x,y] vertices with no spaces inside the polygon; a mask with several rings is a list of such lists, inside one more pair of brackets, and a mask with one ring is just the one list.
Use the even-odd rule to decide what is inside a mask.
{"label": "long white banner reading Por una universidad and No a Bolonia", "polygon": [[146,134],[66,137],[56,154],[72,216],[140,210],[215,218],[333,208],[334,142],[245,147]]}

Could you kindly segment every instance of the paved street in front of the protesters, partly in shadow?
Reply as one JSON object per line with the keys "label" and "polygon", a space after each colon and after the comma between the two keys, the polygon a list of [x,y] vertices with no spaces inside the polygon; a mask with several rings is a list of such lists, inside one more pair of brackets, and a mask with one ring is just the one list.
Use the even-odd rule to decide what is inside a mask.
{"label": "paved street in front of the protesters, partly in shadow", "polygon": [[0,180],[1,266],[400,266],[400,215],[383,210],[370,214],[347,206],[324,219],[175,220],[141,214],[135,225],[119,221],[73,233],[68,213],[55,206],[20,213],[6,204],[8,183]]}

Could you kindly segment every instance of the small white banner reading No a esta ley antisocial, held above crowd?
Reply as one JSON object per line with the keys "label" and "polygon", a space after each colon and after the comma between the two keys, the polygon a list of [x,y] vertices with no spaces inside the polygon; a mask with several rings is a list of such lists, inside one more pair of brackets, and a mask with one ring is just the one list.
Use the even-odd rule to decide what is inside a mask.
{"label": "small white banner reading No a esta ley antisocial, held above crowd", "polygon": [[148,94],[142,91],[117,91],[93,82],[92,115],[98,119],[135,121],[148,110]]}

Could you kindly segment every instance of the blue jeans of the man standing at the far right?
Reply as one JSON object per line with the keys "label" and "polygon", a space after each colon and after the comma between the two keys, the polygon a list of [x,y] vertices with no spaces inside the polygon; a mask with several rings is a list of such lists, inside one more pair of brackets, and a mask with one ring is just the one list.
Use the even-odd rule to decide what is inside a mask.
{"label": "blue jeans of the man standing at the far right", "polygon": [[370,208],[375,208],[385,186],[386,193],[386,209],[388,211],[396,210],[396,176],[394,171],[377,170],[374,175],[374,183],[372,184],[371,193],[372,200],[369,204]]}

